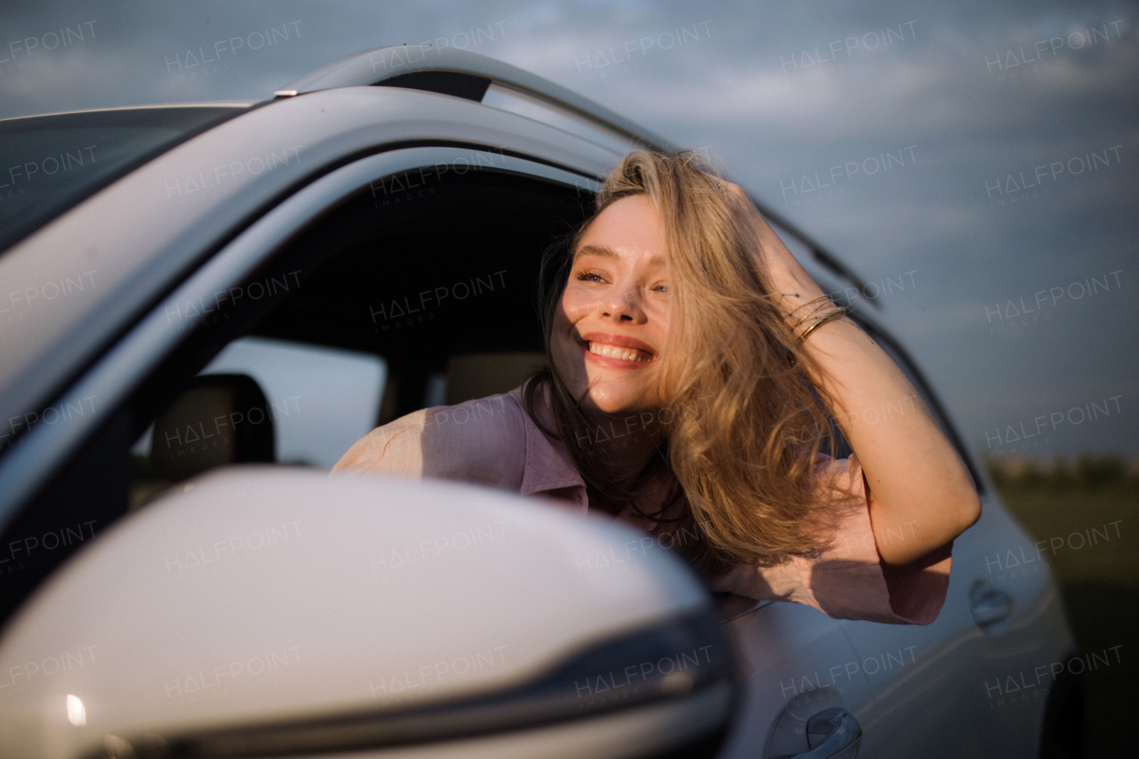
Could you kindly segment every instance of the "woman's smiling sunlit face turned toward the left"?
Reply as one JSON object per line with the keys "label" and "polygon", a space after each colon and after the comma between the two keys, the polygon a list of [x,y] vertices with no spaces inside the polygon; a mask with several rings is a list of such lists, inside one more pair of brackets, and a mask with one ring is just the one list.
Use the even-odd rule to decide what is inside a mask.
{"label": "woman's smiling sunlit face turned toward the left", "polygon": [[587,409],[658,409],[671,287],[664,234],[645,195],[621,198],[585,230],[554,317],[554,362]]}

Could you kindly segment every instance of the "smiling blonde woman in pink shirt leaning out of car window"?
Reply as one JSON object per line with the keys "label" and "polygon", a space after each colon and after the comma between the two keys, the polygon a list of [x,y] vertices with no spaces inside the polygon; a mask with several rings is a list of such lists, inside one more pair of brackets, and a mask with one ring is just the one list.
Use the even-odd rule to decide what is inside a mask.
{"label": "smiling blonde woman in pink shirt leaning out of car window", "polygon": [[334,472],[558,498],[648,530],[713,590],[934,620],[981,513],[968,472],[738,187],[693,152],[630,153],[542,281],[546,370],[379,427]]}

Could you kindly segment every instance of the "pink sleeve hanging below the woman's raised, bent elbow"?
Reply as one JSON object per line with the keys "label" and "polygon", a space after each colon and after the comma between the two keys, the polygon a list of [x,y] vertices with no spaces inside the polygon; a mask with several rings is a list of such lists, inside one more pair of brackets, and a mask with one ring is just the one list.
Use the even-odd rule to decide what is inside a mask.
{"label": "pink sleeve hanging below the woman's raised, bent elbow", "polygon": [[[821,456],[820,478],[857,497],[839,505],[834,532],[809,556],[793,555],[775,566],[741,564],[710,577],[713,590],[755,599],[793,601],[836,619],[891,625],[928,625],[937,618],[949,589],[950,541],[903,566],[887,566],[878,555],[870,524],[862,467],[855,456]],[[904,540],[906,534],[887,539]]]}

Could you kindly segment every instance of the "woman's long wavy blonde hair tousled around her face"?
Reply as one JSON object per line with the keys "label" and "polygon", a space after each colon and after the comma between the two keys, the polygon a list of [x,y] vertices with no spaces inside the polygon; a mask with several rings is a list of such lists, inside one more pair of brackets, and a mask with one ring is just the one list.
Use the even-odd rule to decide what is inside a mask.
{"label": "woman's long wavy blonde hair tousled around her face", "polygon": [[[693,150],[633,150],[622,158],[597,194],[593,215],[543,256],[547,368],[525,386],[539,425],[534,393],[547,389],[556,427],[547,432],[566,442],[591,506],[616,513],[657,475],[673,482],[672,504],[682,501],[683,523],[698,531],[679,549],[705,572],[817,549],[836,497],[816,475],[820,450],[835,450],[827,399],[804,374],[817,366],[772,293],[754,210],[721,189],[720,176]],[[607,457],[572,444],[590,438],[590,422],[582,398],[558,375],[550,337],[582,236],[597,214],[631,195],[647,196],[663,223],[672,295],[661,398],[670,413],[656,415],[663,435],[655,458],[640,476],[621,481]],[[665,511],[675,509],[646,516],[677,521]]]}

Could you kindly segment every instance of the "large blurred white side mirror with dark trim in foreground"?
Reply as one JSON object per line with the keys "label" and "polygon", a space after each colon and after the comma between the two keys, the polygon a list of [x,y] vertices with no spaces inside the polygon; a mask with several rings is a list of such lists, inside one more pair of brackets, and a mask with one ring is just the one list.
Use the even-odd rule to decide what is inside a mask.
{"label": "large blurred white side mirror with dark trim in foreground", "polygon": [[648,757],[727,729],[716,610],[644,533],[398,478],[247,465],[179,491],[9,623],[13,756]]}

